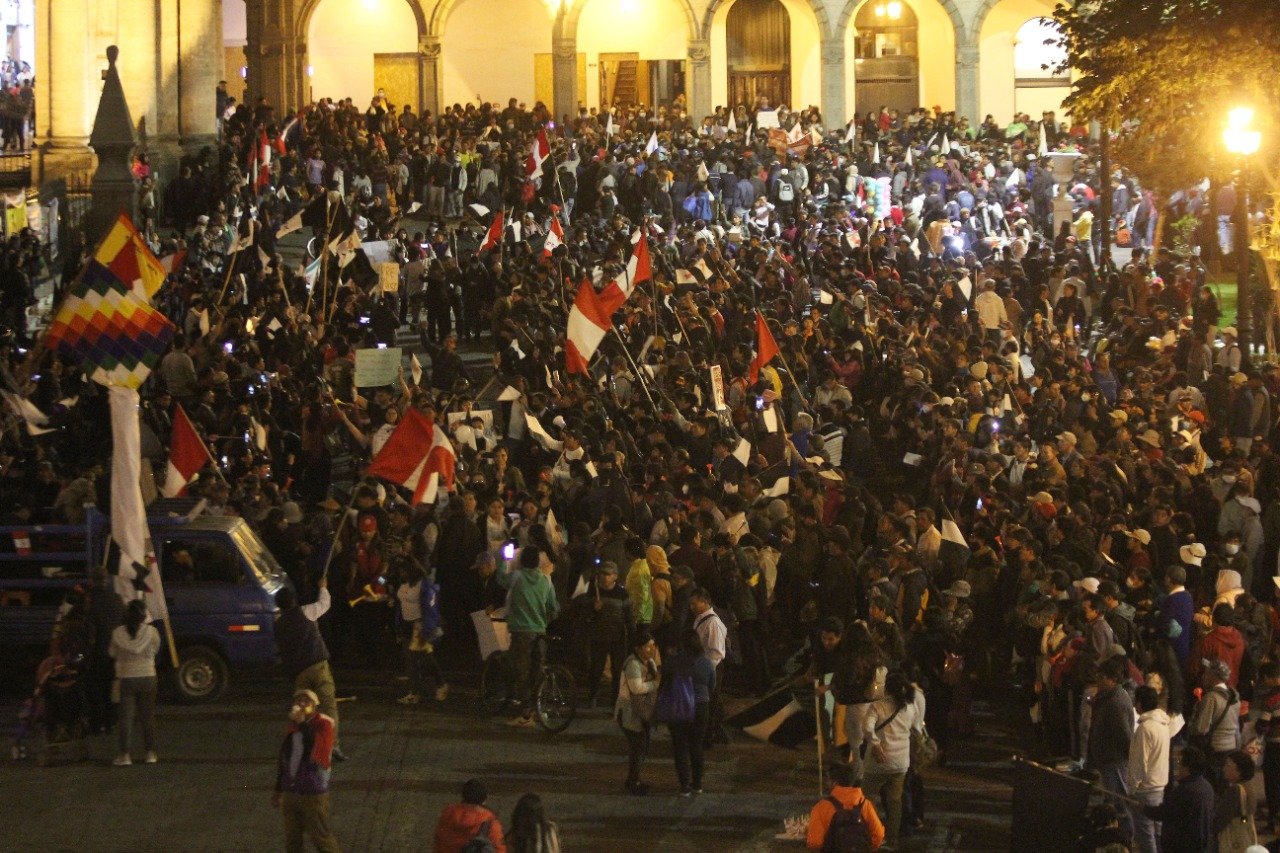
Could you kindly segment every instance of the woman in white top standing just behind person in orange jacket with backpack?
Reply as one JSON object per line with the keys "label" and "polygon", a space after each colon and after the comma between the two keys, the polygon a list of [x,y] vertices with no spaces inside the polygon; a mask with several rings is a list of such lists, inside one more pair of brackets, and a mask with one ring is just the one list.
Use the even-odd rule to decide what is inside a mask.
{"label": "woman in white top standing just behind person in orange jacket with backpack", "polygon": [[924,692],[895,670],[884,679],[884,698],[863,721],[867,748],[863,790],[876,792],[884,815],[884,847],[897,848],[902,824],[902,785],[911,766],[911,733],[924,730]]}

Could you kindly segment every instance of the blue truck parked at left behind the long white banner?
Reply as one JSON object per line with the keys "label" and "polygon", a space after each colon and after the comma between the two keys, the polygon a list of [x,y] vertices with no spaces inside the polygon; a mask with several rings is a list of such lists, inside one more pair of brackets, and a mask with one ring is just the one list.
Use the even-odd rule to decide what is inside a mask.
{"label": "blue truck parked at left behind the long white banner", "polygon": [[[178,646],[178,699],[214,702],[232,671],[276,663],[274,597],[289,579],[253,529],[212,515],[157,514],[147,524]],[[104,555],[110,529],[93,510],[83,525],[0,526],[0,647],[49,643],[67,590],[116,558]]]}

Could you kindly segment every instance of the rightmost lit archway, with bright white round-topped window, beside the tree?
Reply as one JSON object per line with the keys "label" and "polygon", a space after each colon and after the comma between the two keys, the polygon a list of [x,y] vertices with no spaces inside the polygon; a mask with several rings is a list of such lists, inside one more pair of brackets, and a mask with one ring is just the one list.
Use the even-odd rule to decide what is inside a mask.
{"label": "rightmost lit archway, with bright white round-topped window, beside the tree", "polygon": [[1053,110],[1062,117],[1070,76],[1043,68],[1062,58],[1061,49],[1044,44],[1057,32],[1052,15],[1052,0],[1001,0],[982,20],[978,102],[997,124],[1006,124],[1015,113],[1039,119],[1041,113]]}

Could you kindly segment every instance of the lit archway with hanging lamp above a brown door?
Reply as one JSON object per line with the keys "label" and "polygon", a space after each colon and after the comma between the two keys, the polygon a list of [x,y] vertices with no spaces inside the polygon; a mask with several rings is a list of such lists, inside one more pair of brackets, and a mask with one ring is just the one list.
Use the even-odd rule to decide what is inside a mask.
{"label": "lit archway with hanging lamp above a brown door", "polygon": [[846,8],[850,115],[956,104],[956,18],[938,0],[864,0]]}

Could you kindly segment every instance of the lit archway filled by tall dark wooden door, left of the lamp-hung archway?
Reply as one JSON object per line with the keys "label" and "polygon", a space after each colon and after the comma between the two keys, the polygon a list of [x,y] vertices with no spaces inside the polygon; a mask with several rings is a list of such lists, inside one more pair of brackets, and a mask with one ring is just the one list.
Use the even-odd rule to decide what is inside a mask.
{"label": "lit archway filled by tall dark wooden door, left of the lamp-hung archway", "polygon": [[[737,40],[737,46],[733,47],[735,53],[731,53],[730,47],[730,15],[737,18],[733,14],[741,4],[751,4],[746,6],[746,23],[741,24],[746,28],[746,32],[737,31],[735,38]],[[771,5],[772,4],[772,5]],[[786,12],[785,19],[777,15],[777,5]],[[774,74],[781,78],[785,73],[786,85],[782,88],[782,97],[780,100],[773,100],[769,97],[771,106],[786,105],[792,109],[801,109],[812,104],[818,104],[822,92],[822,32],[826,26],[826,18],[819,20],[814,8],[806,3],[806,0],[727,0],[724,3],[713,3],[712,8],[708,10],[710,15],[710,23],[707,28],[709,42],[710,42],[710,56],[712,56],[712,101],[718,105],[733,104],[739,101],[731,97],[733,93],[730,88],[731,74],[745,76],[746,78],[754,77],[758,83],[756,92],[760,92],[759,85],[763,85],[765,90],[769,86],[780,86],[781,83],[771,83],[767,76]],[[742,50],[742,41],[751,40],[750,36],[750,22],[759,19],[762,23],[754,24],[758,28],[768,27],[768,29],[758,29],[755,41],[760,42],[760,46],[768,45],[768,49],[760,51],[763,54],[762,59],[755,59],[755,56],[749,56]],[[783,29],[782,20],[785,20],[785,37],[781,32]],[[737,26],[737,24],[736,24]],[[735,29],[736,29],[735,26]],[[786,45],[783,58],[778,56],[780,45]],[[731,68],[731,63],[737,64]],[[741,81],[742,77],[739,77]],[[744,93],[750,93],[750,88],[744,88],[745,83],[739,83],[739,96]],[[764,91],[768,96],[769,92]]]}

